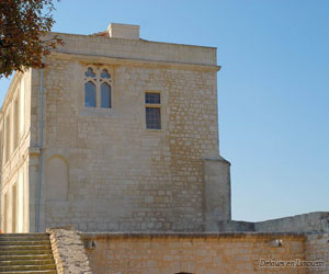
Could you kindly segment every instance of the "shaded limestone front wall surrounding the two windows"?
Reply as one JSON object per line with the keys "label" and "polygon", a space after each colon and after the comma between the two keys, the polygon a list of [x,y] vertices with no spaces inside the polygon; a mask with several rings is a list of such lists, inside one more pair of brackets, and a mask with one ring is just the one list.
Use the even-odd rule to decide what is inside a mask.
{"label": "shaded limestone front wall surrounding the two windows", "polygon": [[[90,41],[88,53],[104,43],[83,39]],[[68,36],[67,52],[79,43],[80,36]],[[106,43],[111,50],[133,43],[136,50],[131,52],[140,58],[147,48],[141,42]],[[67,225],[82,231],[204,230],[205,158],[219,157],[217,68],[191,64],[197,61],[194,57],[188,65],[179,58],[180,64],[173,62],[180,49],[155,45],[159,53],[167,48],[163,58],[170,64],[157,61],[147,50],[146,59],[152,61],[124,59],[124,46],[120,58],[54,53],[46,59],[42,230]],[[185,53],[182,58],[208,50],[207,58],[215,62],[215,49],[172,47]],[[111,72],[112,109],[84,107],[89,66]],[[41,81],[34,75],[32,101],[37,102]],[[146,92],[160,93],[161,129],[146,129]],[[37,115],[36,109],[34,121]],[[35,123],[32,144],[37,144],[37,135]],[[37,158],[31,162],[31,185],[36,185]],[[216,179],[229,180],[223,174]],[[229,181],[219,185],[214,184],[226,187],[227,195]],[[225,205],[219,218],[229,218],[229,197],[217,198],[217,207]]]}

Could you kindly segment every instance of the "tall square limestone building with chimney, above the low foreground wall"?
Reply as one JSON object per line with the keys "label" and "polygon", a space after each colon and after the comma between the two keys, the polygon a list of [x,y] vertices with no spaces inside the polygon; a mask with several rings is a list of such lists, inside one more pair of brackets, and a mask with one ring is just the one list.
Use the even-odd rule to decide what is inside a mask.
{"label": "tall square limestone building with chimney, above the low foreground wall", "polygon": [[216,48],[111,24],[16,73],[1,109],[1,229],[212,231],[230,220]]}

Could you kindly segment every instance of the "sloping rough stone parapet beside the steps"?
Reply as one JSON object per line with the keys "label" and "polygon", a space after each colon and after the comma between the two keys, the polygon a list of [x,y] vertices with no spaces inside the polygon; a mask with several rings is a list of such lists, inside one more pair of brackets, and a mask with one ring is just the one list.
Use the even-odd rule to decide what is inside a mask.
{"label": "sloping rough stone parapet beside the steps", "polygon": [[80,236],[75,230],[47,229],[58,274],[92,274]]}

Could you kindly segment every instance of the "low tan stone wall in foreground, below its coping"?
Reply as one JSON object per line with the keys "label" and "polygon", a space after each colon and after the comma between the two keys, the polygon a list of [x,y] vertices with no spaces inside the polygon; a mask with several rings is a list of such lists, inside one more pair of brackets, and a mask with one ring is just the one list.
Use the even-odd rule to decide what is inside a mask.
{"label": "low tan stone wall in foreground, below its coping", "polygon": [[[94,274],[174,273],[308,273],[306,267],[287,267],[304,261],[302,235],[284,233],[191,233],[121,235],[83,233],[86,252]],[[282,246],[273,244],[276,239]],[[94,247],[93,247],[94,246]],[[265,260],[265,261],[262,261]],[[284,267],[262,267],[265,263]],[[297,261],[298,262],[298,261]],[[309,273],[316,273],[310,270]]]}

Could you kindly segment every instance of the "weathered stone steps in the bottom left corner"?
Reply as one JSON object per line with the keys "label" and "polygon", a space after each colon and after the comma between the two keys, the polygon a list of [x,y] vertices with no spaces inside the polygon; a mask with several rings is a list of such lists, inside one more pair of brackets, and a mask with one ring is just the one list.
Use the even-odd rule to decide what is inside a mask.
{"label": "weathered stone steps in the bottom left corner", "polygon": [[0,235],[0,274],[57,274],[49,235]]}

